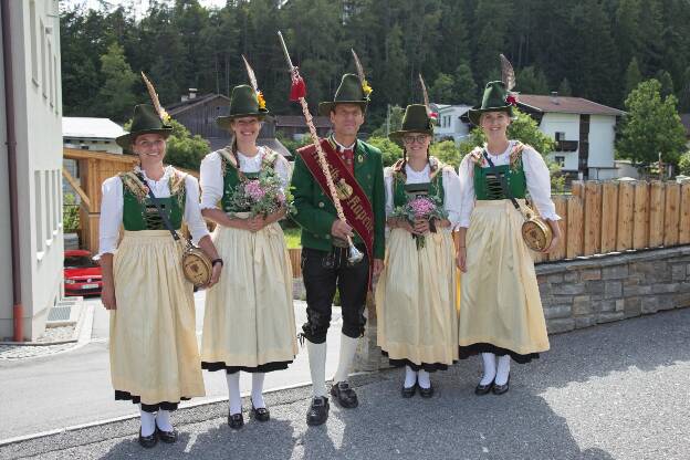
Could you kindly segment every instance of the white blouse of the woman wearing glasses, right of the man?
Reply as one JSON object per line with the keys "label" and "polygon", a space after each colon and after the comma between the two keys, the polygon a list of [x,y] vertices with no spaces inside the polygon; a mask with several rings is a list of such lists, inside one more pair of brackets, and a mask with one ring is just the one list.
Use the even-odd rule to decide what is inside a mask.
{"label": "white blouse of the woman wearing glasses, right of the man", "polygon": [[[431,168],[429,164],[421,171],[416,171],[409,165],[405,165],[407,180],[405,184],[426,184],[431,181]],[[448,211],[448,220],[453,230],[460,222],[460,179],[456,171],[451,168],[443,168],[443,209]],[[394,190],[393,190],[393,168],[384,170],[384,184],[386,187],[386,216],[390,216],[394,210]]]}

